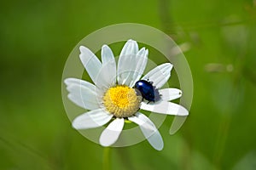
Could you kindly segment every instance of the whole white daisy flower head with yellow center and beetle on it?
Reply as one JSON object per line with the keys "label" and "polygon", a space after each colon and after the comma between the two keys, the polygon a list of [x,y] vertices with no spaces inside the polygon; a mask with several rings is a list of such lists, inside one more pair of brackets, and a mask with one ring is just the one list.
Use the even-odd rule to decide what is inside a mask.
{"label": "whole white daisy flower head with yellow center and beetle on it", "polygon": [[[103,146],[114,144],[125,125],[125,120],[136,123],[154,149],[163,149],[163,140],[154,123],[139,110],[188,116],[189,112],[170,100],[181,97],[177,88],[160,89],[171,76],[172,64],[165,63],[143,71],[148,62],[148,49],[138,49],[136,41],[125,43],[116,62],[112,50],[102,46],[102,62],[89,48],[80,46],[80,59],[94,84],[76,78],[67,78],[68,98],[76,105],[90,110],[73,120],[76,129],[102,127],[108,124],[99,139]],[[142,77],[142,78],[141,78]],[[135,88],[136,82],[146,82]],[[148,100],[146,100],[148,99]]]}

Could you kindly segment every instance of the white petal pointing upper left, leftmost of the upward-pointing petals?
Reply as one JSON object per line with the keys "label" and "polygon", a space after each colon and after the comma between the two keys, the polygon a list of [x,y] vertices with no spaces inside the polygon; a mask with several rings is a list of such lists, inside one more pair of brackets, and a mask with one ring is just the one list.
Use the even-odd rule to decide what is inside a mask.
{"label": "white petal pointing upper left, leftmost of the upward-pointing petals", "polygon": [[84,46],[80,46],[80,52],[79,57],[84,65],[84,68],[88,72],[91,80],[95,82],[96,76],[99,73],[102,63],[101,61],[96,57],[95,54],[93,54],[89,48],[85,48]]}

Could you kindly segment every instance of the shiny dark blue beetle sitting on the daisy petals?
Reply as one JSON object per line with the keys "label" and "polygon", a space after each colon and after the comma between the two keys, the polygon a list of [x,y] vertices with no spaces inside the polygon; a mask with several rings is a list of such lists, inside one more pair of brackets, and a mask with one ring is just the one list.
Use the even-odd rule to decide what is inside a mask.
{"label": "shiny dark blue beetle sitting on the daisy petals", "polygon": [[138,95],[143,96],[143,99],[147,99],[148,103],[151,101],[158,101],[160,94],[157,88],[153,86],[153,82],[146,80],[139,80],[135,83],[134,88],[139,91]]}

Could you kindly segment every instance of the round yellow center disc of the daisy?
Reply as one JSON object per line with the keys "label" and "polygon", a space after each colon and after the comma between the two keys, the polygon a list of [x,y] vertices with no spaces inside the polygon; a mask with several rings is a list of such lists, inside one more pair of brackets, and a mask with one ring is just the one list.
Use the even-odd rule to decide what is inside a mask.
{"label": "round yellow center disc of the daisy", "polygon": [[108,89],[103,101],[106,109],[114,116],[127,117],[137,112],[141,98],[133,88],[116,86]]}

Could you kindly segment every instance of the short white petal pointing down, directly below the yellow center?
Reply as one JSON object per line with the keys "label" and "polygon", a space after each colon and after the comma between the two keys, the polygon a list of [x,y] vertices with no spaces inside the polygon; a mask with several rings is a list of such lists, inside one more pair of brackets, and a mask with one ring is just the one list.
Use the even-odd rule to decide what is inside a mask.
{"label": "short white petal pointing down, directly below the yellow center", "polygon": [[116,118],[113,122],[109,123],[108,127],[102,132],[100,137],[100,144],[103,146],[110,146],[119,139],[125,121],[124,118]]}

